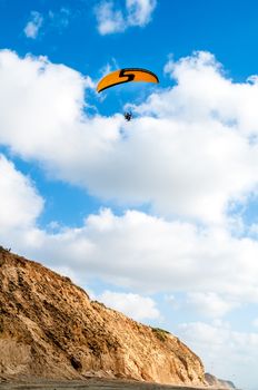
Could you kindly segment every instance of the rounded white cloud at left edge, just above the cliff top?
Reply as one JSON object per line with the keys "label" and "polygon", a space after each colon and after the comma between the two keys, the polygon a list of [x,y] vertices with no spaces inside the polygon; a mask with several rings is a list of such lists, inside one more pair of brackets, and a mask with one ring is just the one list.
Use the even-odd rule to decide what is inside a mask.
{"label": "rounded white cloud at left edge, just above the cliff top", "polygon": [[22,175],[0,155],[0,240],[1,245],[22,251],[33,246],[42,232],[37,220],[43,199],[30,177]]}

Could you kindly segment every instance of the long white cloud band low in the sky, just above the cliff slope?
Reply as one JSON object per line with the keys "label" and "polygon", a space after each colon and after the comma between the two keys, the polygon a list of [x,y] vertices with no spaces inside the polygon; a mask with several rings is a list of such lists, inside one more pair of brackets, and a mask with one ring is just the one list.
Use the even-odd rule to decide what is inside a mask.
{"label": "long white cloud band low in the sky, just above the cliff slope", "polygon": [[[198,232],[190,224],[132,211],[118,217],[107,209],[90,215],[83,227],[51,237],[51,245],[44,247],[54,244],[57,250],[63,247],[63,262],[72,256],[78,273],[86,267],[88,274],[123,286],[225,293],[228,310],[234,296],[242,302],[258,300],[258,244],[226,232]],[[111,262],[107,262],[107,253]],[[217,313],[227,311],[218,298],[217,305]]]}

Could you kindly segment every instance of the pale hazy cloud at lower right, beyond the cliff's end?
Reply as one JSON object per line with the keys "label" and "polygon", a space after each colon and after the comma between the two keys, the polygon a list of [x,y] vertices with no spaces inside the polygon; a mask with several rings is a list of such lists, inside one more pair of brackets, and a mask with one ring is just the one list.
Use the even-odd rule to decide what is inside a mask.
{"label": "pale hazy cloud at lower right, beyond the cliff's end", "polygon": [[206,369],[218,378],[230,379],[237,387],[257,388],[258,333],[234,331],[229,324],[216,321],[180,325],[180,335],[206,361]]}

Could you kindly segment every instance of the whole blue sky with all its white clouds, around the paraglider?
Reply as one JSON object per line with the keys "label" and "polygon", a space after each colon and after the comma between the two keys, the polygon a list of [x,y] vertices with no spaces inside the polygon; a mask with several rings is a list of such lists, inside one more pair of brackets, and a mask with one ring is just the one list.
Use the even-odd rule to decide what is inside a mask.
{"label": "whole blue sky with all its white clouds, around the paraglider", "polygon": [[[257,13],[0,0],[0,244],[244,389],[258,383]],[[98,95],[122,67],[160,84]]]}

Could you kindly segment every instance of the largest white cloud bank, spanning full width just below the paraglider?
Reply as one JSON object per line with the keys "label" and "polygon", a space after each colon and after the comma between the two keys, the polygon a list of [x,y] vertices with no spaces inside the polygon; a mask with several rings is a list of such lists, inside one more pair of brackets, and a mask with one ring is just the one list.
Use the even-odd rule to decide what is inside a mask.
{"label": "largest white cloud bank, spanning full width just below the paraglider", "polygon": [[0,62],[0,143],[52,176],[105,199],[206,224],[224,224],[232,202],[256,194],[258,146],[249,135],[258,86],[226,79],[210,55],[173,64],[178,84],[151,95],[130,124],[121,115],[87,117],[92,81],[68,67],[8,50]]}

